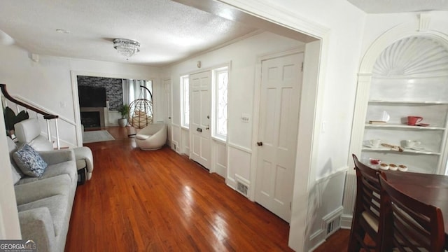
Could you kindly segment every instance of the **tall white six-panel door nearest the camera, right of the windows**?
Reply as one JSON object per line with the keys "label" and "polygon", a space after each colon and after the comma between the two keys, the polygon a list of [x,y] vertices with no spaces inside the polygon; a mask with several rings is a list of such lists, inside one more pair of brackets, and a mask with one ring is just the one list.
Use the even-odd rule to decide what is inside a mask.
{"label": "tall white six-panel door nearest the camera, right of the windows", "polygon": [[302,62],[303,53],[262,61],[255,202],[288,222],[293,197]]}

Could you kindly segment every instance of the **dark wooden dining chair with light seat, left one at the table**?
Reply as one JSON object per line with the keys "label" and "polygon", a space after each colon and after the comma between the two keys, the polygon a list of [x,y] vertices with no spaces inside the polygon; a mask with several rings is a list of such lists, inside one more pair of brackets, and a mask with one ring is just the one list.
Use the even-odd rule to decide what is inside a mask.
{"label": "dark wooden dining chair with light seat, left one at the table", "polygon": [[[351,223],[349,252],[380,251],[382,225],[380,218],[380,186],[377,174],[379,171],[367,167],[353,154],[356,169],[356,202]],[[385,176],[383,173],[381,176]],[[365,234],[374,244],[365,243]]]}

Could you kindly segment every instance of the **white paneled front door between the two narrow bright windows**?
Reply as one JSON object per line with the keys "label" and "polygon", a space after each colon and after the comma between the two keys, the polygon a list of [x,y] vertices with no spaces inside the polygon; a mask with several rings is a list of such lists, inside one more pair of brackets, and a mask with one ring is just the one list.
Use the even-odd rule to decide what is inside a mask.
{"label": "white paneled front door between the two narrow bright windows", "polygon": [[190,158],[211,165],[211,71],[190,75]]}

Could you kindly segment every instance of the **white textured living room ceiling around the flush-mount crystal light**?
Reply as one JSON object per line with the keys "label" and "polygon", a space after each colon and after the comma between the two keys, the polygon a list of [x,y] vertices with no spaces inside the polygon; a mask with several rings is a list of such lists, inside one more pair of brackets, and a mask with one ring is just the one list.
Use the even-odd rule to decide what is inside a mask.
{"label": "white textured living room ceiling around the flush-mount crystal light", "polygon": [[[153,66],[179,61],[256,31],[169,0],[1,1],[0,30],[38,55],[107,62],[126,62],[112,40],[130,38],[139,41],[141,48],[129,62]],[[0,32],[0,41],[6,37]]]}

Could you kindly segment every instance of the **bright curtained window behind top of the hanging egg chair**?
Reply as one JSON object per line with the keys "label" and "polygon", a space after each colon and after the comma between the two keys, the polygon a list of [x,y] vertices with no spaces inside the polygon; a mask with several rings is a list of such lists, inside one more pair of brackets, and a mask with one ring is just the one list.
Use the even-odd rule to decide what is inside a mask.
{"label": "bright curtained window behind top of the hanging egg chair", "polygon": [[123,104],[130,104],[136,99],[148,99],[153,102],[151,95],[144,88],[144,86],[153,93],[153,81],[152,80],[131,80],[123,79]]}

